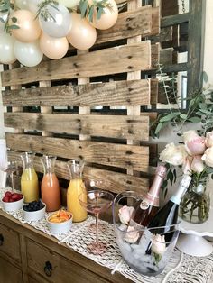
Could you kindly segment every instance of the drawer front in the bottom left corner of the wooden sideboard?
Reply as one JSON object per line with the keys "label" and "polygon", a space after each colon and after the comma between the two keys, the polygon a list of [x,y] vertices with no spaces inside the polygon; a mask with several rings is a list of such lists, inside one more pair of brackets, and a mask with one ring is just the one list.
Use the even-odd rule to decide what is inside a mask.
{"label": "drawer front in the bottom left corner of the wooden sideboard", "polygon": [[21,283],[23,275],[20,269],[0,257],[0,282],[4,283]]}

